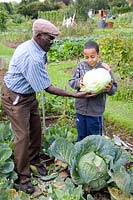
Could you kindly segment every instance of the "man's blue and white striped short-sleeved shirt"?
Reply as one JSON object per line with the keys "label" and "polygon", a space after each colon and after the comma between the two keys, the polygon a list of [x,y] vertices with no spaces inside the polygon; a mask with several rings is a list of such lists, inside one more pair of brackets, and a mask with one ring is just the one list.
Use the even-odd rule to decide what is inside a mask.
{"label": "man's blue and white striped short-sleeved shirt", "polygon": [[20,94],[45,90],[51,85],[45,69],[47,53],[32,38],[19,45],[4,77],[6,86]]}

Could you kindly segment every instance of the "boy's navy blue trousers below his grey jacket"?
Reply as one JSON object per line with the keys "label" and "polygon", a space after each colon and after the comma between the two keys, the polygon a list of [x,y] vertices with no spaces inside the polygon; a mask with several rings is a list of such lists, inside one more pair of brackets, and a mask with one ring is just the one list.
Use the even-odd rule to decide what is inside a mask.
{"label": "boy's navy blue trousers below his grey jacket", "polygon": [[86,116],[76,113],[77,141],[89,135],[102,135],[103,116]]}

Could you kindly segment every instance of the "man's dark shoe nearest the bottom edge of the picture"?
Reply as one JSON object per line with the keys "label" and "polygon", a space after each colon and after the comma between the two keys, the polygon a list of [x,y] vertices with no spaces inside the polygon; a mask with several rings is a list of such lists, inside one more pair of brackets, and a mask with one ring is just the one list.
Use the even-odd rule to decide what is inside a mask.
{"label": "man's dark shoe nearest the bottom edge of the picture", "polygon": [[32,194],[35,192],[35,189],[31,183],[30,178],[26,178],[26,179],[20,179],[20,190],[22,190],[23,192],[27,193],[27,194]]}

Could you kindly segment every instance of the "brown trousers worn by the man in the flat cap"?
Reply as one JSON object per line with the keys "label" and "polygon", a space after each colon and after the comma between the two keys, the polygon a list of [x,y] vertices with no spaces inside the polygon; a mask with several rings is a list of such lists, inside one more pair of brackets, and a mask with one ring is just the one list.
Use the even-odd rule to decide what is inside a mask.
{"label": "brown trousers worn by the man in the flat cap", "polygon": [[30,164],[40,162],[41,121],[36,95],[21,95],[4,84],[2,106],[14,132],[14,160],[20,176],[30,176]]}

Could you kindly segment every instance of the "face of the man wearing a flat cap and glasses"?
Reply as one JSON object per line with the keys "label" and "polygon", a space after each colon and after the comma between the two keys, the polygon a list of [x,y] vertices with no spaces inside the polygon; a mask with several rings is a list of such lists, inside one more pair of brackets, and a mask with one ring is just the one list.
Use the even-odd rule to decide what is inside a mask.
{"label": "face of the man wearing a flat cap and glasses", "polygon": [[45,34],[45,33],[41,33],[39,35],[39,45],[41,46],[41,48],[48,52],[50,47],[52,46],[53,44],[53,41],[54,41],[54,37],[51,36],[51,35],[48,35],[48,34]]}

